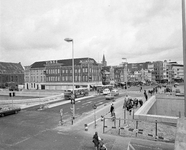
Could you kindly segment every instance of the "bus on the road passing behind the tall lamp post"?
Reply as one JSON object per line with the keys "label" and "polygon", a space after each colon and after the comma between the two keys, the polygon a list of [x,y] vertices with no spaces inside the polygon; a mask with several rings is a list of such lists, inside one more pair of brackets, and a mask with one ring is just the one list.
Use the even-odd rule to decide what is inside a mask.
{"label": "bus on the road passing behind the tall lamp post", "polygon": [[[73,94],[73,89],[68,89],[64,91],[64,98],[71,99],[71,95]],[[89,95],[88,88],[74,88],[75,98],[84,97]]]}

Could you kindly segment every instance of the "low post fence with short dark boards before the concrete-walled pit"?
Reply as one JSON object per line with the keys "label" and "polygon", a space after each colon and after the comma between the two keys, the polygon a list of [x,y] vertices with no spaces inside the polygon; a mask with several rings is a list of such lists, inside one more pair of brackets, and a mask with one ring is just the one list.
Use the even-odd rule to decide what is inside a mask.
{"label": "low post fence with short dark boards before the concrete-walled pit", "polygon": [[103,118],[103,133],[174,142],[176,125],[157,121]]}

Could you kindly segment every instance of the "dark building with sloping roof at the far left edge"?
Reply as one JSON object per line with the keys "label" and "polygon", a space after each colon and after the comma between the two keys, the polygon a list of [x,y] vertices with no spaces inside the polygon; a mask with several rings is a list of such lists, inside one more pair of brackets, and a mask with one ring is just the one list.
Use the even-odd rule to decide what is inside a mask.
{"label": "dark building with sloping roof at the far left edge", "polygon": [[24,85],[24,68],[21,63],[0,62],[0,86]]}

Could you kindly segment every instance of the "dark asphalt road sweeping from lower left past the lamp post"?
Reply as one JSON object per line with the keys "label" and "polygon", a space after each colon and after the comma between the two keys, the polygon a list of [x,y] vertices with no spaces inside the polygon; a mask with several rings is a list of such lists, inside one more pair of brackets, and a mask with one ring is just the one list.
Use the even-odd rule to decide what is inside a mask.
{"label": "dark asphalt road sweeping from lower left past the lamp post", "polygon": [[[124,93],[119,97],[123,95]],[[105,97],[101,95],[77,100],[75,116],[78,118],[83,114],[86,115],[93,110],[93,104],[99,107],[109,102],[111,101],[105,100]],[[60,109],[63,109],[63,119],[69,120],[72,116],[70,107],[72,107],[70,101],[64,105],[43,110],[38,110],[39,106],[36,106],[22,110],[16,115],[0,118],[0,149],[61,149],[61,145],[64,150],[75,149],[71,141],[78,146],[83,137],[78,137],[80,135],[71,132],[56,134],[54,131],[60,120]],[[61,140],[55,141],[55,136],[58,136],[56,140]],[[69,146],[72,147],[69,148]]]}

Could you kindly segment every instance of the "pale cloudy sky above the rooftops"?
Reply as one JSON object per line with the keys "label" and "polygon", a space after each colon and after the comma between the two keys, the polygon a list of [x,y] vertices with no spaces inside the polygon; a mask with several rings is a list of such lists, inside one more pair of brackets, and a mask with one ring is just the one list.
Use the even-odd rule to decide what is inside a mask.
{"label": "pale cloudy sky above the rooftops", "polygon": [[0,61],[183,63],[181,0],[0,0]]}

